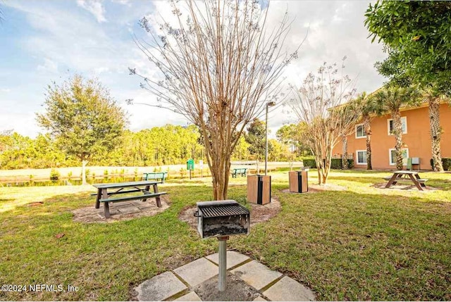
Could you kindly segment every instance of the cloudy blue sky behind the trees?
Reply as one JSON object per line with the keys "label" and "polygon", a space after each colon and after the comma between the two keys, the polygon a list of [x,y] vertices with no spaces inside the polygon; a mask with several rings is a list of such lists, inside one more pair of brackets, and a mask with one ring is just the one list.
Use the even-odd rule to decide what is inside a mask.
{"label": "cloudy blue sky behind the trees", "polygon": [[[152,102],[140,89],[140,79],[128,67],[152,72],[153,68],[132,39],[144,37],[137,25],[144,15],[156,20],[171,18],[166,1],[0,1],[0,132],[14,130],[35,137],[44,132],[35,113],[42,113],[46,87],[70,75],[99,77],[112,96],[128,111],[130,130],[185,125],[183,116],[148,106],[125,104],[125,99]],[[288,49],[307,40],[299,58],[286,70],[294,84],[324,61],[338,62],[347,56],[346,71],[358,77],[357,89],[373,91],[383,78],[373,68],[385,57],[380,44],[366,39],[364,11],[367,1],[271,1],[268,25],[276,25],[285,10],[294,19],[286,42]],[[274,134],[295,118],[280,108],[270,115]]]}

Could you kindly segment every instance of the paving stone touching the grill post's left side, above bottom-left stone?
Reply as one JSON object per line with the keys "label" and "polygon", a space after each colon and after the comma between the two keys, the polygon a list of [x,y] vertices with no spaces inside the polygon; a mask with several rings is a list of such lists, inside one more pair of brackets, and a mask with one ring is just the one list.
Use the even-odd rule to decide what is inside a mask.
{"label": "paving stone touching the grill post's left side, above bottom-left stone", "polygon": [[176,268],[174,272],[187,284],[190,284],[190,287],[195,287],[197,284],[218,275],[218,266],[205,258],[200,258]]}

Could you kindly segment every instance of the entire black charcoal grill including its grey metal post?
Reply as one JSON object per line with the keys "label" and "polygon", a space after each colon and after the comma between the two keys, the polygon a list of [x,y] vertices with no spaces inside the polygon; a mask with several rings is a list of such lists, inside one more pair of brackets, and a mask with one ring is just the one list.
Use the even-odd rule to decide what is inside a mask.
{"label": "entire black charcoal grill including its grey metal post", "polygon": [[197,231],[202,239],[219,240],[218,266],[219,291],[226,290],[227,240],[230,235],[249,234],[249,210],[233,200],[201,201],[197,203]]}

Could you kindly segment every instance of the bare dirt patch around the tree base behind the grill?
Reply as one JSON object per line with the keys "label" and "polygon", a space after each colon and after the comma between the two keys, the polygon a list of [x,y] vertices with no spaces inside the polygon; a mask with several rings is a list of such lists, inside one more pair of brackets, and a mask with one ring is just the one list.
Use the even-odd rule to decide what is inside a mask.
{"label": "bare dirt patch around the tree base behind the grill", "polygon": [[[249,210],[251,216],[251,226],[259,222],[264,222],[270,220],[276,216],[281,208],[278,198],[271,197],[271,202],[264,205],[257,203],[248,203],[251,209]],[[197,218],[194,217],[194,212],[197,210],[197,206],[190,206],[189,208],[184,208],[178,219],[187,222],[191,227],[197,229]]]}

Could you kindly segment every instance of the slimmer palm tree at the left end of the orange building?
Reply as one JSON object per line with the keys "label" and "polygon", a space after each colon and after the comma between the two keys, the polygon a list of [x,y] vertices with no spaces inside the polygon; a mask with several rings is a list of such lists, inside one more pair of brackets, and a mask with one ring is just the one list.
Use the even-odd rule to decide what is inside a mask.
{"label": "slimmer palm tree at the left end of the orange building", "polygon": [[373,170],[371,165],[371,120],[374,115],[381,115],[381,104],[376,101],[372,94],[362,92],[356,101],[361,103],[362,120],[364,122],[364,133],[366,136],[366,170]]}

